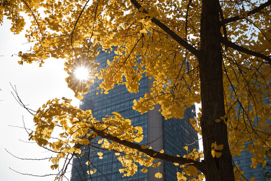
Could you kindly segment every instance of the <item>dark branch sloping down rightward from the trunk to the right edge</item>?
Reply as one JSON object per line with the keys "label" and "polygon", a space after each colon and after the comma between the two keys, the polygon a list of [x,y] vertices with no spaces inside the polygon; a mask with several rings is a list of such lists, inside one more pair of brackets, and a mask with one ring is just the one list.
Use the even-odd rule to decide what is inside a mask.
{"label": "dark branch sloping down rightward from the trunk to the right edge", "polygon": [[235,50],[238,50],[240,52],[243,52],[243,53],[246,53],[246,54],[249,54],[249,55],[252,55],[252,56],[255,56],[255,57],[259,57],[259,58],[262,58],[263,60],[266,60],[268,64],[271,64],[271,58],[269,56],[266,56],[266,55],[263,55],[261,53],[258,53],[258,52],[254,52],[252,50],[249,50],[247,48],[244,48],[244,47],[241,47],[229,40],[227,40],[226,38],[221,38],[221,43],[228,46],[228,47],[231,47]]}

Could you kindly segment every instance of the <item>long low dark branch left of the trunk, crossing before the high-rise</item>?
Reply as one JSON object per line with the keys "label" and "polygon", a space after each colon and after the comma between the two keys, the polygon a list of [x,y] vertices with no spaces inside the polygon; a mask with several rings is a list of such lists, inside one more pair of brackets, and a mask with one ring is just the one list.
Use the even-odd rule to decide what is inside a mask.
{"label": "long low dark branch left of the trunk, crossing before the high-rise", "polygon": [[117,142],[121,145],[124,146],[128,146],[130,148],[139,150],[143,153],[146,153],[147,155],[153,157],[153,158],[158,158],[161,160],[166,160],[166,161],[170,161],[170,162],[176,162],[176,163],[180,163],[180,164],[193,164],[197,169],[199,169],[200,171],[202,171],[203,173],[205,172],[205,165],[202,162],[199,161],[195,161],[189,158],[183,158],[183,157],[178,157],[178,156],[172,156],[172,155],[168,155],[165,153],[160,153],[159,151],[155,151],[153,149],[143,149],[141,146],[137,143],[132,143],[126,140],[120,140],[119,138],[112,136],[108,133],[104,133],[103,131],[97,130],[94,127],[90,127],[90,129],[92,131],[94,131],[95,133],[97,133],[98,136],[102,137],[102,138],[106,138],[109,139],[111,141]]}

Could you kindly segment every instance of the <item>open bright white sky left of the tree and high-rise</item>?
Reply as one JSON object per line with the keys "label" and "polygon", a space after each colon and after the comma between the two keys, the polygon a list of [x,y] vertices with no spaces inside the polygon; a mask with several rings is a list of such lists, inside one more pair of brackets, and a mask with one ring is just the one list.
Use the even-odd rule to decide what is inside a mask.
{"label": "open bright white sky left of the tree and high-rise", "polygon": [[[0,26],[0,180],[53,180],[52,177],[33,177],[21,175],[12,171],[9,167],[29,174],[43,175],[53,173],[51,163],[46,161],[19,160],[10,155],[22,158],[51,157],[51,153],[41,149],[36,143],[25,143],[28,134],[24,129],[11,127],[23,126],[22,117],[26,127],[33,128],[32,115],[22,108],[13,98],[11,92],[16,85],[20,98],[29,108],[37,110],[49,99],[66,97],[73,99],[72,105],[78,106],[79,101],[74,98],[73,92],[67,88],[65,82],[66,72],[63,70],[63,60],[48,59],[43,67],[32,63],[19,65],[20,60],[16,54],[19,51],[29,49],[30,44],[24,38],[24,33],[14,35],[10,32],[10,22],[4,21]],[[12,56],[14,54],[14,56]]]}

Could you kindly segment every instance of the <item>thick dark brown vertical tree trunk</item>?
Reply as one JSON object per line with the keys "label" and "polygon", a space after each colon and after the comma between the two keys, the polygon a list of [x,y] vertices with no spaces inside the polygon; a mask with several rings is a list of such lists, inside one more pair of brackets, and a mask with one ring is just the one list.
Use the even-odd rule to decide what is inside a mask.
{"label": "thick dark brown vertical tree trunk", "polygon": [[[225,115],[219,1],[203,0],[201,13],[201,53],[199,58],[201,80],[201,129],[206,180],[234,181],[232,157],[229,151],[227,125],[214,120]],[[211,145],[223,144],[219,158],[211,154]]]}

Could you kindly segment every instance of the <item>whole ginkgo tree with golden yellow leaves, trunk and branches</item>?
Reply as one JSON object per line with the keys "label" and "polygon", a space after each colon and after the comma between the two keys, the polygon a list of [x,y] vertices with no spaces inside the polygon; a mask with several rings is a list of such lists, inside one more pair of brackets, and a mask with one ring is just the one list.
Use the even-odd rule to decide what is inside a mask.
{"label": "whole ginkgo tree with golden yellow leaves, trunk and branches", "polygon": [[[145,74],[154,79],[153,85],[134,101],[133,109],[145,113],[159,104],[168,119],[183,118],[185,108],[194,103],[202,105],[199,118],[191,120],[202,135],[202,161],[202,153],[195,150],[180,157],[138,144],[143,130],[130,120],[114,112],[98,121],[91,110],[73,107],[65,98],[50,100],[36,112],[30,139],[56,153],[53,169],[60,159],[69,164],[81,146],[97,139],[103,149],[122,153],[124,176],[137,171],[129,169],[136,168],[135,163],[144,165],[141,171],[146,172],[158,158],[180,166],[178,180],[202,180],[204,175],[208,181],[244,180],[232,156],[246,149],[252,152],[255,167],[264,166],[266,152],[270,154],[270,4],[270,0],[2,0],[0,22],[10,19],[15,34],[26,28],[25,36],[34,44],[28,52],[19,52],[19,64],[37,61],[42,66],[49,57],[65,58],[66,81],[78,99],[94,77],[103,79],[101,93],[118,83],[134,93]],[[23,15],[31,17],[30,27],[24,27]],[[99,46],[106,51],[117,47],[117,56],[97,71]],[[76,67],[87,67],[92,78],[78,81]],[[53,139],[57,128],[62,132]],[[66,167],[60,170],[59,179]],[[202,174],[196,176],[197,170]]]}

